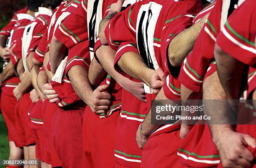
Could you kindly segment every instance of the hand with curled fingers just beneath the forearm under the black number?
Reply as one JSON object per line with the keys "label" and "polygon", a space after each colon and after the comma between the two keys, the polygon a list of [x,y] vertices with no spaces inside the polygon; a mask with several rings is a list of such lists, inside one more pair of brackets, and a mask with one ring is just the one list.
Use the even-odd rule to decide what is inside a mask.
{"label": "hand with curled fingers just beneath the forearm under the black number", "polygon": [[137,97],[139,100],[146,102],[146,94],[142,82],[132,81],[128,78],[119,82],[123,89],[130,92],[133,96]]}

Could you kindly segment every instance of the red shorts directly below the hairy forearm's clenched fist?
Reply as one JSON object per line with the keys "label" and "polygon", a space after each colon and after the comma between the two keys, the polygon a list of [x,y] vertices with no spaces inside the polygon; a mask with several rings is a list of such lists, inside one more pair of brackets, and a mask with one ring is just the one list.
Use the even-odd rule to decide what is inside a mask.
{"label": "red shorts directly below the hairy forearm's clenched fist", "polygon": [[[83,140],[86,160],[89,160],[89,163],[92,160],[94,168],[114,167],[114,139],[119,115],[120,111],[115,111],[107,118],[100,118],[89,106],[85,109]],[[102,159],[106,157],[108,159]]]}

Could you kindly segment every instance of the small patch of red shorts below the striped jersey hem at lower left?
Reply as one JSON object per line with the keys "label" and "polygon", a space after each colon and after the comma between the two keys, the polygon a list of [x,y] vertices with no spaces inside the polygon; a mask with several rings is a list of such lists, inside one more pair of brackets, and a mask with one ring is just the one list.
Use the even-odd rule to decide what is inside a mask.
{"label": "small patch of red shorts below the striped jersey hem at lower left", "polygon": [[36,158],[43,162],[45,161],[45,141],[44,141],[44,133],[43,130],[35,130],[33,129],[34,137],[36,140]]}

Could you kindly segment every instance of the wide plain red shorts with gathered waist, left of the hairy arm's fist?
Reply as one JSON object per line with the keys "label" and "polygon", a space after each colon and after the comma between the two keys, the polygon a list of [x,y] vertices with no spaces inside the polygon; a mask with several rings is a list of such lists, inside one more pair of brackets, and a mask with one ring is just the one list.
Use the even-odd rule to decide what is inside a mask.
{"label": "wide plain red shorts with gathered waist, left of the hairy arm's fist", "polygon": [[64,168],[85,168],[82,143],[84,110],[58,108],[52,121],[54,147]]}

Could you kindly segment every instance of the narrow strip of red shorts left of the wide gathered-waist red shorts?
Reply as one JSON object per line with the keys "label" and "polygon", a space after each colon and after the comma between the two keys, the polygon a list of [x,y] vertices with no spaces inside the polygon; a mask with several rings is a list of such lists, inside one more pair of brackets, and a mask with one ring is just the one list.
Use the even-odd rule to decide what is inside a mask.
{"label": "narrow strip of red shorts left of the wide gathered-waist red shorts", "polygon": [[52,132],[52,119],[57,110],[55,103],[50,103],[49,99],[44,100],[42,104],[42,115],[44,120],[43,132],[44,132],[44,140],[46,143],[45,151],[48,154],[46,159],[46,163],[50,163],[52,167],[61,166],[61,161],[59,159],[59,155],[54,148],[54,140],[53,140],[53,132]]}

